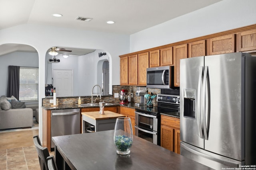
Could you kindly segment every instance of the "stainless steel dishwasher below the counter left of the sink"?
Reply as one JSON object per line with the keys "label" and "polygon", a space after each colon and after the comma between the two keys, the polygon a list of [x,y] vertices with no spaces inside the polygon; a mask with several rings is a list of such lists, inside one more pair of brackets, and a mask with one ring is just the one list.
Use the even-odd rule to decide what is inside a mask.
{"label": "stainless steel dishwasher below the counter left of the sink", "polygon": [[[51,141],[54,136],[80,133],[80,109],[52,110]],[[51,148],[55,147],[53,141]]]}

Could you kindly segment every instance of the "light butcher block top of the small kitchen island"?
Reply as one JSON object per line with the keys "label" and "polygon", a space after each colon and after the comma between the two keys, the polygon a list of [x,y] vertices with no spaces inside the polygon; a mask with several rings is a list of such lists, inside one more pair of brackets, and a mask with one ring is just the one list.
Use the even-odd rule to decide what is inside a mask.
{"label": "light butcher block top of the small kitchen island", "polygon": [[116,119],[118,117],[125,117],[125,115],[121,115],[113,111],[104,111],[104,113],[105,113],[104,115],[100,115],[99,111],[88,111],[88,112],[82,112],[82,115],[85,115],[95,120]]}

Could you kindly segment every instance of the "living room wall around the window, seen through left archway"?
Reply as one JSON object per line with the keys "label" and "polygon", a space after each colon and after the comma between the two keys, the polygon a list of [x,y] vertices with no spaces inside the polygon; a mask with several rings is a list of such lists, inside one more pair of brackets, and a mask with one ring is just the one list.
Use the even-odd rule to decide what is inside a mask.
{"label": "living room wall around the window, seen through left archway", "polygon": [[8,66],[38,67],[38,53],[14,52],[0,56],[0,96],[7,94]]}

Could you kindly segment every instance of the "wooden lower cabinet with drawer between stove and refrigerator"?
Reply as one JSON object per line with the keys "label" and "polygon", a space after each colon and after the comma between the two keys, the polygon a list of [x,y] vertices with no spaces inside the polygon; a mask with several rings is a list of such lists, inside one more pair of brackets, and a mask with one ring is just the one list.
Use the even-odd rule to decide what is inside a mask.
{"label": "wooden lower cabinet with drawer between stove and refrigerator", "polygon": [[180,119],[161,115],[161,147],[180,154]]}

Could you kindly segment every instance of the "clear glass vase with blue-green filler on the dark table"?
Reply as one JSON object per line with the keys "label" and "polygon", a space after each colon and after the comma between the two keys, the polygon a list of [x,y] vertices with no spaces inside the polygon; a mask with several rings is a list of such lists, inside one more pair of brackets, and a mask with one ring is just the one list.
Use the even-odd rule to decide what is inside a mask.
{"label": "clear glass vase with blue-green filler on the dark table", "polygon": [[130,117],[118,117],[114,130],[116,153],[121,155],[130,154],[132,140],[132,123]]}

